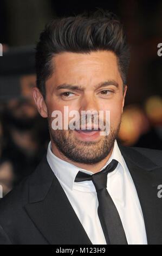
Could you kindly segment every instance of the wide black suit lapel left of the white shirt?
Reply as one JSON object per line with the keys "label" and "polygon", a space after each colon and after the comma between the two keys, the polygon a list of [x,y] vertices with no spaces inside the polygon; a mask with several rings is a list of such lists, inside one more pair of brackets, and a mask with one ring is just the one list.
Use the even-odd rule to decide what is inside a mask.
{"label": "wide black suit lapel left of the white shirt", "polygon": [[[38,175],[40,187],[30,184],[30,203],[25,209],[42,235],[51,245],[92,245],[46,159],[36,172],[37,178]],[[45,176],[48,182],[46,191],[42,192]]]}

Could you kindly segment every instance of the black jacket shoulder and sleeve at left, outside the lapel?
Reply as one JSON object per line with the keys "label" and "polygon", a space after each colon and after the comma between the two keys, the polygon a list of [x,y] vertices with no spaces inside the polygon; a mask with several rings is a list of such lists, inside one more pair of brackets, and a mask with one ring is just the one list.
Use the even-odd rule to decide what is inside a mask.
{"label": "black jacket shoulder and sleeve at left, outside the lapel", "polygon": [[42,160],[33,173],[25,177],[20,184],[0,200],[0,245],[3,244],[2,241],[7,244],[34,241],[33,238],[37,231],[25,210],[25,205],[29,203],[30,188],[33,186],[34,192],[37,192],[37,182],[40,176],[41,180],[46,180],[44,178],[46,175],[42,176],[42,169],[46,170],[46,166],[45,169],[43,166],[44,162],[46,161]]}

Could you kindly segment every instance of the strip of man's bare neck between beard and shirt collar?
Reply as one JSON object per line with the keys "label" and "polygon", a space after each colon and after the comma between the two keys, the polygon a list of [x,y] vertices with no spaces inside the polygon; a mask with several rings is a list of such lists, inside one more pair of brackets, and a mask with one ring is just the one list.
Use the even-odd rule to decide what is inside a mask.
{"label": "strip of man's bare neck between beard and shirt collar", "polygon": [[93,173],[98,173],[100,172],[100,170],[102,169],[103,166],[105,166],[105,164],[107,163],[109,157],[112,154],[113,148],[111,149],[111,152],[105,157],[105,159],[101,160],[98,163],[94,163],[94,164],[86,164],[86,163],[79,163],[79,162],[74,162],[72,160],[69,160],[66,156],[64,156],[56,147],[56,145],[54,144],[54,142],[51,140],[51,151],[52,153],[59,157],[61,160],[66,161],[68,163],[72,163],[74,166],[77,166],[81,169],[86,169],[89,170],[90,172]]}

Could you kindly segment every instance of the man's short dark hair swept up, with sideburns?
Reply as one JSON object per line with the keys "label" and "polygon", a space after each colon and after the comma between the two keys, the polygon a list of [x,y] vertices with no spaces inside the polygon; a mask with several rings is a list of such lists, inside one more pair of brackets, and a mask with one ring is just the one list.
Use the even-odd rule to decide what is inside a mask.
{"label": "man's short dark hair swept up, with sideburns", "polygon": [[123,82],[126,84],[129,65],[129,46],[123,25],[118,17],[109,11],[96,10],[91,14],[70,17],[57,17],[48,23],[40,34],[36,46],[37,87],[44,99],[45,83],[53,74],[51,59],[62,52],[90,53],[98,50],[116,54]]}

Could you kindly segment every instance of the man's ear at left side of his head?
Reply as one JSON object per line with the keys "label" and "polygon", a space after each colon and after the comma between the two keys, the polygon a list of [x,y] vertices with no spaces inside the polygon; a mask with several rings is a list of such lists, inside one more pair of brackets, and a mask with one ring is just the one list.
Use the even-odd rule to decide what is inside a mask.
{"label": "man's ear at left side of his head", "polygon": [[32,91],[38,112],[42,117],[48,117],[47,105],[40,90],[37,87],[34,87]]}

